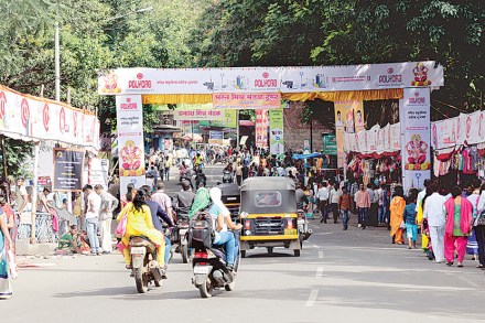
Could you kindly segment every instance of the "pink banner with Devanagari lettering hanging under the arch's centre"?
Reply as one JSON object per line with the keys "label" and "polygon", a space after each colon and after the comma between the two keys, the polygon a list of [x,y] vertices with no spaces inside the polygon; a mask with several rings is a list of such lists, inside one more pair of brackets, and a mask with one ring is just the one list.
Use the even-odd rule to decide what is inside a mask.
{"label": "pink banner with Devanagari lettering hanging under the arch's centre", "polygon": [[241,110],[257,110],[257,109],[280,109],[281,94],[280,93],[220,93],[213,95],[213,103],[215,109],[241,109]]}

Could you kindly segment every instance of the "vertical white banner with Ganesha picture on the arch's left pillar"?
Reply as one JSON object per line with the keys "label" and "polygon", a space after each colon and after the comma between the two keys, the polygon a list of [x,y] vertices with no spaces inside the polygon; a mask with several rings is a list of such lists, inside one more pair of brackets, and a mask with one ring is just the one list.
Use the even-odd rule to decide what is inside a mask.
{"label": "vertical white banner with Ganesha picture on the arch's left pillar", "polygon": [[140,95],[116,96],[120,191],[146,184],[143,110]]}

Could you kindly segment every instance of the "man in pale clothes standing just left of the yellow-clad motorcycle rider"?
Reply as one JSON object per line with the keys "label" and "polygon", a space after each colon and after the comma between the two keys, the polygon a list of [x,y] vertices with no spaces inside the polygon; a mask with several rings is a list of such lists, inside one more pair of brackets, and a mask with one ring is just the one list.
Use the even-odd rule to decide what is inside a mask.
{"label": "man in pale clothes standing just left of the yellow-clad motorcycle rider", "polygon": [[112,212],[118,207],[118,200],[115,196],[105,192],[103,185],[95,186],[96,193],[101,197],[101,205],[99,211],[99,232],[101,234],[101,250],[103,254],[111,252],[111,220]]}

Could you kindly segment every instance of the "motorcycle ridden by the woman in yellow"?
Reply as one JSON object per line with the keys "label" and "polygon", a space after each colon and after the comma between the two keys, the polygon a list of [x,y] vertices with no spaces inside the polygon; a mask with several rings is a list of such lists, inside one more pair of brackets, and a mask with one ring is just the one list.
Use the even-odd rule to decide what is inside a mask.
{"label": "motorcycle ridden by the woman in yellow", "polygon": [[129,243],[131,258],[131,277],[134,278],[137,291],[146,293],[148,286],[162,286],[162,271],[157,262],[157,247],[147,237],[132,236]]}

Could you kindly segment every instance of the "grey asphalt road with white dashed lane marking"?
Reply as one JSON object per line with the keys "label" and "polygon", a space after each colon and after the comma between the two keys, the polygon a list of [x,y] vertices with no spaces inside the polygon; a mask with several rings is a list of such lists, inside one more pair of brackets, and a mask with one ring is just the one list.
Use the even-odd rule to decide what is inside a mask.
{"label": "grey asphalt road with white dashed lane marking", "polygon": [[[207,171],[209,181],[220,169]],[[168,191],[177,187],[169,185]],[[3,322],[478,322],[485,274],[434,263],[390,244],[384,228],[362,230],[312,220],[301,257],[284,249],[248,252],[234,292],[201,299],[191,267],[175,255],[162,288],[137,294],[120,255],[21,259]]]}

